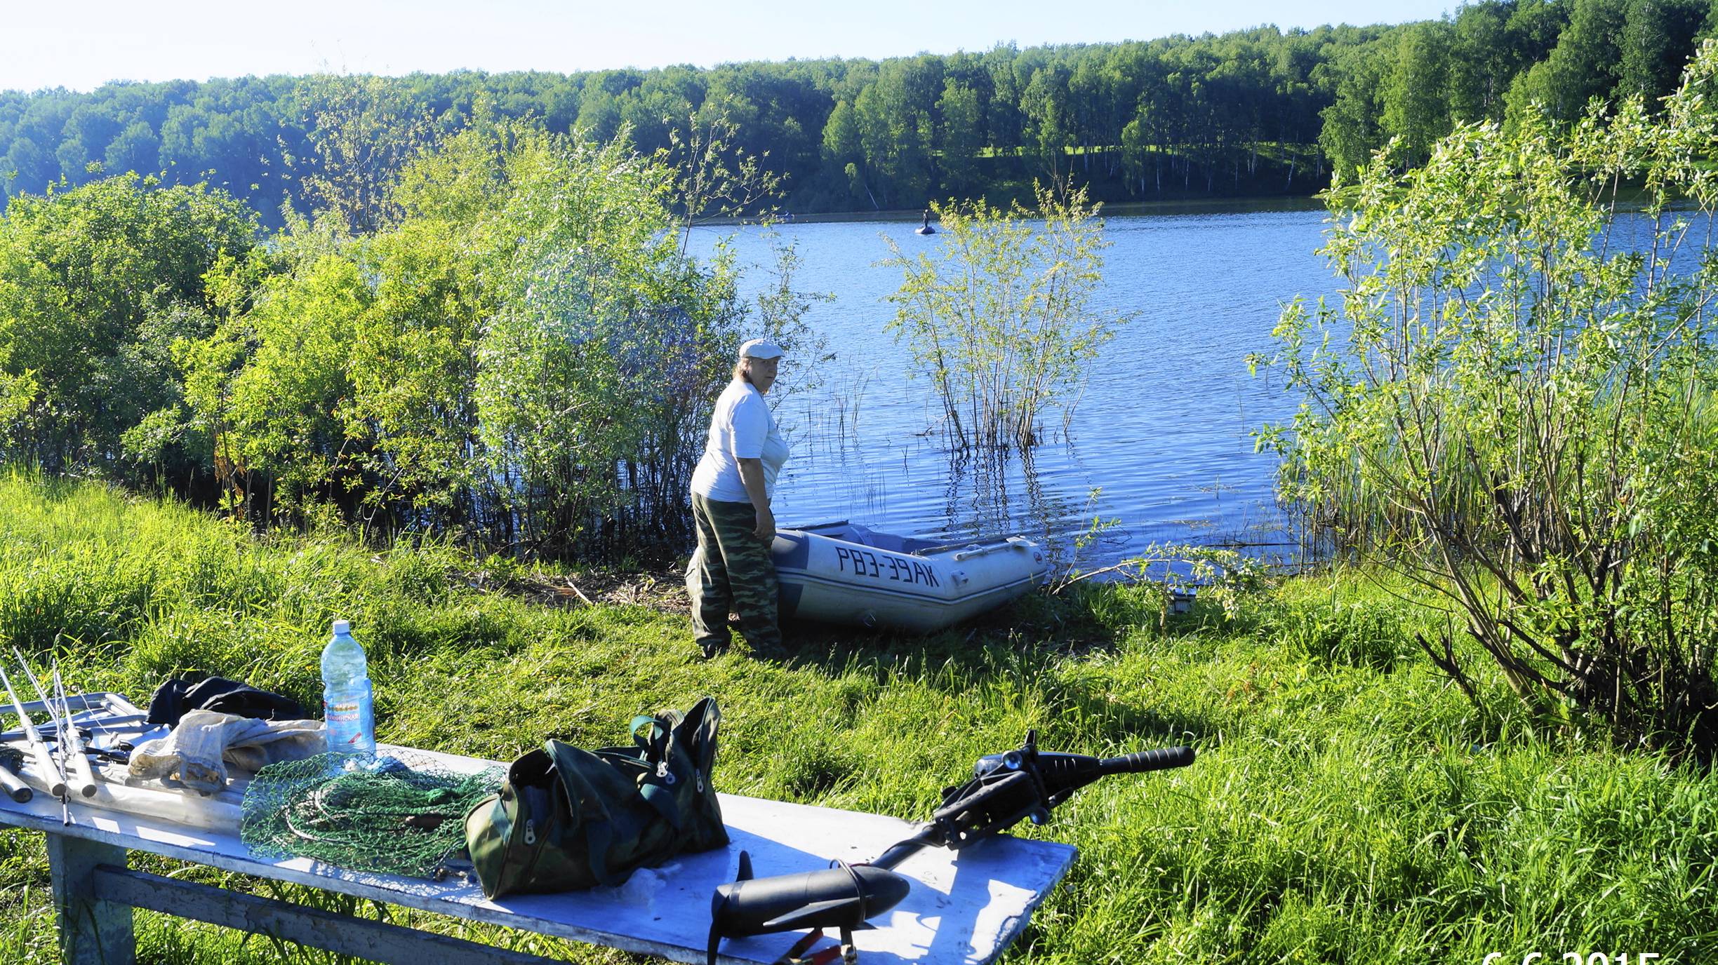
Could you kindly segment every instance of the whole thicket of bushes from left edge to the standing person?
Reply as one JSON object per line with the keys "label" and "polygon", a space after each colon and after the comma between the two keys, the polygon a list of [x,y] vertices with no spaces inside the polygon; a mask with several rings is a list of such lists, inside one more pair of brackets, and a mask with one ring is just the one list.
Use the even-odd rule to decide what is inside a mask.
{"label": "whole thicket of bushes from left edge to the standing person", "polygon": [[289,213],[268,246],[203,185],[124,175],[12,204],[0,457],[170,484],[253,524],[680,551],[742,328],[823,354],[792,249],[756,306],[730,256],[682,251],[689,218],[759,201],[773,175],[720,117],[691,153],[641,156],[486,103],[392,175],[411,130],[357,148],[388,124],[364,100],[380,81],[323,81],[316,96],[345,98],[318,108],[338,136],[314,168],[328,208]]}

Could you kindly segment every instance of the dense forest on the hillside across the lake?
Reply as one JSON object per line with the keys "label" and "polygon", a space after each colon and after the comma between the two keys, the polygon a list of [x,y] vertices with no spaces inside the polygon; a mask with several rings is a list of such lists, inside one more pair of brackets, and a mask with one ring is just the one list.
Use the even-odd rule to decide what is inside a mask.
{"label": "dense forest on the hillside across the lake", "polygon": [[[385,184],[474,112],[644,151],[722,139],[795,211],[1029,197],[1311,194],[1390,137],[1424,156],[1457,122],[1670,93],[1715,0],[1481,0],[1400,26],[1258,27],[1067,46],[713,69],[268,76],[0,91],[5,199],[122,172],[208,182],[278,225],[318,192]],[[713,199],[715,204],[718,199]],[[380,215],[378,215],[380,216]],[[354,227],[364,228],[362,218]]]}

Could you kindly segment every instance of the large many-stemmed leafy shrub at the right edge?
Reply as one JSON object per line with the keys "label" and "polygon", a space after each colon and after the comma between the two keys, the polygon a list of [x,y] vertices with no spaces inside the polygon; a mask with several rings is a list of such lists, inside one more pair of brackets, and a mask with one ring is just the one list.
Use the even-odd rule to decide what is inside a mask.
{"label": "large many-stemmed leafy shrub at the right edge", "polygon": [[[1283,313],[1306,402],[1263,438],[1311,524],[1445,594],[1529,706],[1706,752],[1715,72],[1708,43],[1656,117],[1629,98],[1567,132],[1462,125],[1417,172],[1385,151],[1333,189],[1347,288]],[[1421,644],[1476,694],[1455,634]]]}

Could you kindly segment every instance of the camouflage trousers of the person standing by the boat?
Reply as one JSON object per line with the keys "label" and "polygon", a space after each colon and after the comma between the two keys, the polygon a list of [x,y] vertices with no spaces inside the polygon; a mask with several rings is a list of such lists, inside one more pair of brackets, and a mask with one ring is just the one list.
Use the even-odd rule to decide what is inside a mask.
{"label": "camouflage trousers of the person standing by the boat", "polygon": [[692,493],[698,551],[685,567],[692,594],[692,632],[706,656],[728,646],[728,608],[740,615],[740,632],[758,652],[782,647],[777,627],[777,580],[770,548],[754,532],[751,503],[723,503]]}

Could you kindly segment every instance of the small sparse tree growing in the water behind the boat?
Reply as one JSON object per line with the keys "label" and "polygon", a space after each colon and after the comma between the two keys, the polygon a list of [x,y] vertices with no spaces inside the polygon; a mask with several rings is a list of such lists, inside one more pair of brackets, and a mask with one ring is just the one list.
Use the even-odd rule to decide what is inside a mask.
{"label": "small sparse tree growing in the water behind the boat", "polygon": [[1039,417],[1079,400],[1086,362],[1130,321],[1094,313],[1103,283],[1103,222],[1084,189],[1057,196],[1036,185],[1038,213],[984,201],[933,204],[938,249],[907,256],[890,295],[888,330],[912,345],[943,402],[945,429],[960,448],[1031,446]]}

